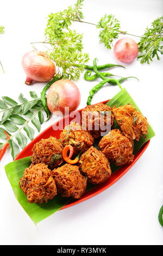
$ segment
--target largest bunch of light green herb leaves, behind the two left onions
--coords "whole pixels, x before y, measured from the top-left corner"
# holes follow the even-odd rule
[[[48,15],[45,29],[45,44],[51,46],[47,52],[56,65],[62,69],[63,78],[77,80],[83,68],[74,64],[86,64],[89,54],[83,53],[83,35],[70,29],[73,20],[83,19],[81,11],[83,0],[78,0],[74,7],[68,7],[59,13]]]

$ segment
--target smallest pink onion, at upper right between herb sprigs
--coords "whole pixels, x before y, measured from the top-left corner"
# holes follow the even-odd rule
[[[120,62],[130,63],[137,57],[139,47],[137,43],[130,38],[122,38],[118,40],[114,46],[115,57]]]

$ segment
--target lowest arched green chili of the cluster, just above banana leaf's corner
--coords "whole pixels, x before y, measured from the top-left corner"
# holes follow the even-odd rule
[[[89,95],[89,97],[88,97],[88,99],[87,99],[87,105],[91,105],[91,101],[92,101],[92,97],[93,97],[93,95],[95,94],[95,93],[97,93],[98,92],[98,90],[99,89],[101,89],[103,86],[104,86],[104,84],[105,83],[110,83],[110,82],[114,82],[114,83],[116,83],[121,89],[122,89],[122,87],[121,87],[121,84],[120,84],[120,82],[118,82],[118,80],[116,80],[116,79],[114,79],[114,78],[105,78],[105,80],[103,80],[102,82],[100,82],[100,83],[98,83],[95,87],[93,87],[91,90],[90,90],[90,95]]]

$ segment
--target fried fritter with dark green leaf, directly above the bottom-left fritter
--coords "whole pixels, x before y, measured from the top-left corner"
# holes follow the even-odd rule
[[[48,168],[54,169],[63,162],[62,150],[62,144],[57,138],[51,136],[48,139],[41,139],[32,149],[31,161],[45,163]]]

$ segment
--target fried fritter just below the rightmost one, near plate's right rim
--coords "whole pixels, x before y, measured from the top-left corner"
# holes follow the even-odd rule
[[[111,130],[98,144],[109,160],[116,166],[133,162],[134,141],[124,136],[120,130]]]

